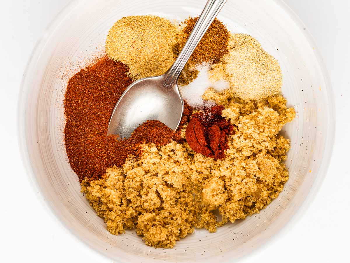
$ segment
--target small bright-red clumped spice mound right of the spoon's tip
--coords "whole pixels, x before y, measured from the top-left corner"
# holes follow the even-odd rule
[[[233,126],[222,117],[221,105],[211,107],[193,115],[186,128],[186,141],[196,152],[204,156],[223,159],[227,150],[227,135],[232,134]]]

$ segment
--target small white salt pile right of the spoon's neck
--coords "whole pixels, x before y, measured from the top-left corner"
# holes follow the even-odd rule
[[[219,80],[219,81],[211,81],[209,80],[208,71],[210,69],[210,65],[207,63],[203,63],[194,68],[198,70],[199,73],[192,82],[190,82],[186,86],[180,86],[181,95],[184,100],[192,107],[208,107],[212,106],[214,102],[204,101],[202,99],[202,95],[208,88],[214,88],[218,91],[230,88],[230,84],[228,81]]]

